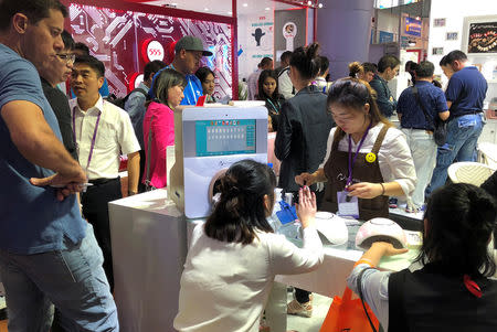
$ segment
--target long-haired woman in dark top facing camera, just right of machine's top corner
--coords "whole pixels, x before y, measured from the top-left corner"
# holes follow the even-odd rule
[[[277,131],[279,111],[285,101],[278,93],[278,75],[276,71],[265,69],[258,76],[258,95],[255,96],[257,100],[266,101],[268,118],[268,130]]]

